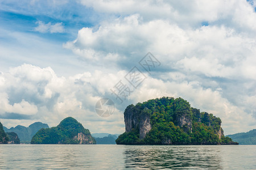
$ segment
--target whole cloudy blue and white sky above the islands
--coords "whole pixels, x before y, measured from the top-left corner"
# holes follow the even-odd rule
[[[0,0],[0,121],[72,116],[121,134],[127,105],[169,96],[220,117],[225,135],[256,129],[255,11],[252,0]],[[102,98],[109,117],[96,113]]]

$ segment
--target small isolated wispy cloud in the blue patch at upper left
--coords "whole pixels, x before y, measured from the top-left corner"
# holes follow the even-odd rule
[[[62,23],[55,23],[52,24],[51,22],[49,23],[44,23],[42,21],[36,22],[38,24],[38,27],[34,28],[34,31],[42,32],[42,33],[62,33],[65,32],[64,26]]]

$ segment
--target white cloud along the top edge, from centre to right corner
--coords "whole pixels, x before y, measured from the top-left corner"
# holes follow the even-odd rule
[[[119,15],[141,14],[146,20],[167,19],[181,27],[196,27],[202,22],[236,25],[256,29],[254,7],[249,1],[87,1],[82,5],[93,7],[98,12]]]

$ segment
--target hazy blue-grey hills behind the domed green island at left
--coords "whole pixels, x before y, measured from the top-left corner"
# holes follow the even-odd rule
[[[32,137],[42,128],[49,128],[49,126],[42,122],[35,122],[28,127],[18,125],[15,128],[10,129],[3,126],[3,130],[5,130],[6,133],[16,133],[20,139],[20,143],[30,143]]]

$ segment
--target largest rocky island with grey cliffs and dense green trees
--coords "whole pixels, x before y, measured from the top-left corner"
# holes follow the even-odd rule
[[[224,136],[221,119],[192,108],[180,97],[129,105],[118,145],[238,145]]]

